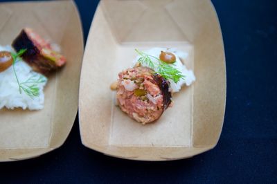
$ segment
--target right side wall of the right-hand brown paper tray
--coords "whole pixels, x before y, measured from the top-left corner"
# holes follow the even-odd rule
[[[199,62],[195,62],[195,73],[204,75],[208,82],[198,81],[194,86],[197,89],[194,94],[193,114],[193,145],[195,147],[217,145],[222,132],[226,108],[226,64],[220,21],[211,1],[203,1],[203,3],[209,4],[205,7],[211,15],[211,19],[209,19],[211,26],[207,26],[205,34],[199,35],[195,39],[195,42],[202,43],[195,44],[195,53],[202,53],[195,55],[195,59],[202,61],[201,67],[197,67]],[[206,42],[203,42],[205,39]],[[211,42],[213,42],[212,46],[209,44]],[[208,91],[208,93],[204,91]],[[207,114],[209,116],[206,116]]]

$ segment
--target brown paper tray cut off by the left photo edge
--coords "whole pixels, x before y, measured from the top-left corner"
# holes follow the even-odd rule
[[[44,109],[0,110],[0,161],[39,156],[60,147],[78,109],[83,54],[82,27],[73,1],[0,3],[0,44],[11,44],[22,28],[33,28],[59,44],[67,62],[48,77]]]

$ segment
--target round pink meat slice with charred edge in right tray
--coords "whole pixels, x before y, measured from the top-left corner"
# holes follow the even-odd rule
[[[118,74],[116,98],[120,109],[143,125],[157,120],[171,102],[168,81],[147,67]]]

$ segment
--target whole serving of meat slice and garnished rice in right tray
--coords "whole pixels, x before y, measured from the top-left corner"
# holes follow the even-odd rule
[[[118,74],[118,81],[111,84],[116,90],[120,109],[143,125],[159,119],[172,106],[172,93],[195,81],[193,71],[182,63],[186,53],[173,48],[136,49],[138,57],[133,68]],[[182,60],[182,61],[181,61]]]

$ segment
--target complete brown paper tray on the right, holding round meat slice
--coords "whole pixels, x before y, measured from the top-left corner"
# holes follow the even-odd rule
[[[175,47],[188,53],[196,82],[150,125],[115,106],[109,85],[132,67],[134,48]],[[135,160],[188,158],[215,147],[225,111],[222,34],[211,1],[109,1],[96,11],[82,65],[79,121],[82,143]]]

